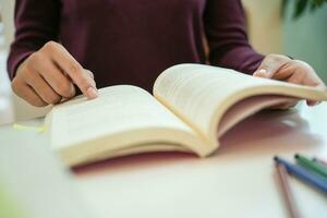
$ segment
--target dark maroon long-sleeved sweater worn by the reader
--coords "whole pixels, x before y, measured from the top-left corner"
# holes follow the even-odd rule
[[[152,90],[156,77],[178,63],[208,61],[252,73],[263,59],[249,45],[240,0],[16,0],[15,26],[11,78],[49,40],[90,70],[98,87]]]

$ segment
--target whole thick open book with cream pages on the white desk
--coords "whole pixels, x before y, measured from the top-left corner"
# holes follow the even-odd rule
[[[233,70],[180,64],[166,70],[154,96],[131,85],[76,97],[47,114],[51,147],[72,167],[138,153],[179,150],[209,156],[246,117],[290,98],[326,100],[316,88]]]

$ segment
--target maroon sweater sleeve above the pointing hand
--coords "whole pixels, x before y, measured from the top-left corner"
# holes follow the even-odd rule
[[[58,0],[16,0],[15,37],[8,58],[12,80],[19,65],[47,41],[57,40],[60,8]]]

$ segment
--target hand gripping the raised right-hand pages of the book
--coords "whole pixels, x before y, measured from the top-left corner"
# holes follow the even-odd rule
[[[307,63],[299,60],[292,60],[286,56],[268,55],[254,72],[254,76],[275,78],[300,85],[307,85],[326,90],[326,85],[316,74],[314,69]],[[296,105],[298,101],[291,101],[282,106],[280,109],[287,109]],[[307,100],[308,106],[314,106],[319,102]]]

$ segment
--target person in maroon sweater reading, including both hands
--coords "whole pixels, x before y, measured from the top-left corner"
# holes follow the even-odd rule
[[[204,36],[213,65],[325,88],[305,62],[252,49],[240,0],[16,0],[15,25],[9,73],[34,106],[73,97],[73,84],[95,98],[95,80],[150,90],[173,64],[206,63]]]

